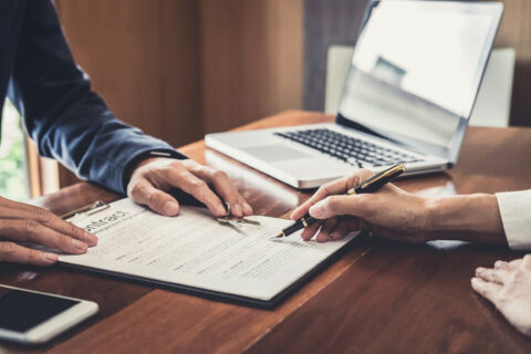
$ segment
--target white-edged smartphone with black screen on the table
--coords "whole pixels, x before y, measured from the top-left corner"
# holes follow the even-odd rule
[[[0,339],[44,343],[97,311],[92,301],[0,284]]]

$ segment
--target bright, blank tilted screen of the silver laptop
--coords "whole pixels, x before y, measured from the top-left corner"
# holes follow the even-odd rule
[[[340,123],[457,159],[501,13],[497,2],[373,2]]]

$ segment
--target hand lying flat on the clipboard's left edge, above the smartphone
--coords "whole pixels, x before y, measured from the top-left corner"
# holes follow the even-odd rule
[[[0,197],[0,261],[51,266],[58,254],[14,242],[33,242],[66,253],[85,253],[97,238],[53,214]]]

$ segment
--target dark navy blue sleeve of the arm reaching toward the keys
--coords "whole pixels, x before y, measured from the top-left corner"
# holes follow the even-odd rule
[[[126,192],[127,170],[147,152],[186,158],[110,112],[75,64],[51,0],[0,1],[0,107],[6,95],[41,155],[114,191]]]

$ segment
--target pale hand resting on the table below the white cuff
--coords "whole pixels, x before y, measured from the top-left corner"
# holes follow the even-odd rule
[[[531,254],[493,269],[478,268],[472,289],[494,304],[518,331],[531,336]]]

